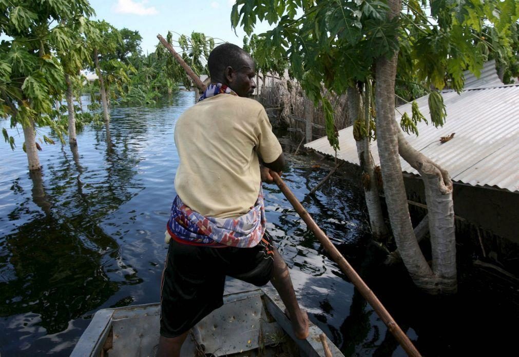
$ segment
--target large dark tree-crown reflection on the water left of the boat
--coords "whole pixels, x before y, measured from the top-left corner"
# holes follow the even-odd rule
[[[2,250],[9,253],[2,263],[12,271],[0,283],[0,315],[31,312],[39,316],[47,333],[54,333],[117,290],[117,284],[103,272],[100,252],[117,250],[117,243],[91,219],[78,219],[78,214],[71,215],[62,205],[53,204],[47,192],[55,195],[57,189],[61,193],[67,187],[46,188],[45,178],[41,172],[30,174],[32,201],[41,210],[3,239]],[[25,201],[15,211],[28,209]],[[103,242],[98,249],[92,249],[91,237],[78,229],[81,226],[90,226],[96,241]]]

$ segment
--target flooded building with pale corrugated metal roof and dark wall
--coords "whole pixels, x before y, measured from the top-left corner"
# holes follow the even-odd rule
[[[481,229],[484,236],[486,232],[487,237],[504,238],[487,238],[485,246],[488,251],[506,255],[503,246],[512,243],[513,251],[519,246],[519,84],[504,85],[496,74],[494,61],[485,64],[480,78],[469,74],[466,78],[461,93],[442,92],[447,111],[443,127],[431,124],[426,95],[416,102],[429,125],[419,122],[418,136],[404,135],[415,149],[449,172],[454,182],[458,220],[473,225],[477,234]],[[411,104],[395,109],[398,119],[405,112],[411,115]],[[452,134],[452,140],[440,141],[442,136]],[[339,130],[339,146],[338,159],[359,165],[353,127]],[[305,147],[335,155],[326,137]],[[378,165],[376,141],[371,143],[371,150]],[[402,158],[400,163],[409,200],[425,203],[418,172]]]

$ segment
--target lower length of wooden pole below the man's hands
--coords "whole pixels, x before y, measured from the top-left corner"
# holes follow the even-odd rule
[[[313,221],[310,214],[305,210],[301,202],[297,200],[292,191],[286,184],[281,180],[281,177],[275,172],[272,172],[272,177],[274,178],[274,182],[281,189],[283,195],[285,195],[286,199],[292,204],[296,212],[303,218],[308,228],[316,235],[317,239],[324,246],[324,249],[330,254],[332,259],[337,263],[346,276],[350,279],[350,281],[359,289],[359,292],[364,296],[367,302],[373,307],[375,312],[378,314],[380,319],[384,321],[388,330],[393,334],[393,336],[397,339],[399,344],[402,346],[404,351],[409,356],[420,356],[420,352],[413,345],[413,342],[409,340],[409,338],[405,335],[399,325],[393,320],[389,312],[386,308],[380,303],[380,300],[376,297],[376,295],[371,291],[371,289],[366,285],[366,283],[362,280],[362,278],[357,274],[357,272],[351,267],[348,261],[344,258],[342,254],[335,248],[335,245],[330,241],[324,232],[319,228],[319,226]]]

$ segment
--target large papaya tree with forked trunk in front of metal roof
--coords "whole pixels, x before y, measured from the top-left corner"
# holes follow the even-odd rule
[[[326,133],[335,149],[333,110],[321,95],[323,88],[344,94],[374,81],[374,98],[366,100],[375,109],[371,116],[392,234],[413,281],[431,294],[457,289],[453,185],[443,168],[406,142],[395,120],[395,78],[398,74],[423,84],[430,92],[432,123],[443,125],[446,111],[438,90],[462,90],[463,71],[479,75],[489,51],[510,53],[518,12],[513,0],[407,0],[403,9],[400,0],[288,0],[268,6],[238,0],[231,10],[233,26],[243,26],[248,34],[258,20],[276,24],[260,36],[265,53],[288,59],[291,75],[308,97],[322,102]],[[491,35],[484,36],[486,32]],[[422,120],[416,105],[414,109],[412,118],[403,116],[404,127]],[[420,251],[409,218],[399,155],[420,173],[426,187],[432,266]]]

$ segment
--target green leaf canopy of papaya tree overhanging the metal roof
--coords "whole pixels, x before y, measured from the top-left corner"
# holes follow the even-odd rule
[[[395,51],[399,51],[397,92],[407,99],[424,95],[431,87],[460,91],[463,71],[479,75],[492,53],[503,62],[517,63],[513,43],[519,3],[514,0],[404,0],[403,5],[400,16],[392,17],[386,2],[376,0],[237,0],[230,20],[248,34],[257,21],[276,23],[254,40],[255,59],[265,70],[269,63],[288,62],[290,76],[313,100],[321,98],[323,88],[343,94],[356,82],[365,83],[374,77],[375,60],[390,58]],[[443,125],[441,95],[433,91],[430,100],[434,125]],[[420,118],[417,111],[412,118],[407,115],[405,127],[413,131]],[[334,146],[332,124],[326,120]]]

